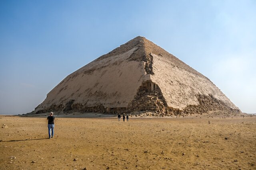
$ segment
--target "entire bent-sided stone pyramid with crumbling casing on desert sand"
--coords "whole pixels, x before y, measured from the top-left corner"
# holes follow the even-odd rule
[[[68,75],[33,113],[216,110],[240,112],[207,77],[138,36]]]

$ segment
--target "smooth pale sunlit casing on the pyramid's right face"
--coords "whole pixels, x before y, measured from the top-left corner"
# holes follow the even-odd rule
[[[196,76],[158,55],[153,56],[154,75],[150,76],[156,82],[169,107],[184,109],[186,106],[199,105],[198,95],[212,95],[232,109],[238,109],[208,78]]]

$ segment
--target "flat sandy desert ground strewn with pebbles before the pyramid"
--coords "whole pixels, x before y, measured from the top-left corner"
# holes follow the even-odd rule
[[[0,169],[256,169],[256,116],[0,116]],[[209,124],[210,121],[210,124]],[[226,139],[225,139],[226,138]]]

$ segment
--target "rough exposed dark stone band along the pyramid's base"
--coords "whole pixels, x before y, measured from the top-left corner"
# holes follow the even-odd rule
[[[142,93],[144,92],[144,95]],[[139,100],[136,100],[138,96],[147,96],[147,97],[140,97]],[[223,102],[217,100],[212,95],[204,96],[198,95],[198,101],[200,105],[190,105],[185,107],[183,110],[168,107],[166,102],[163,99],[159,98],[160,89],[156,88],[154,93],[146,92],[145,91],[138,91],[137,96],[131,102],[130,106],[128,107],[104,107],[102,105],[88,107],[84,106],[83,104],[73,103],[70,105],[70,102],[64,105],[52,105],[47,109],[37,111],[36,113],[32,114],[40,114],[40,113],[47,113],[54,111],[56,113],[73,113],[73,112],[95,112],[95,113],[105,113],[105,114],[112,114],[117,115],[118,113],[132,113],[134,111],[146,111],[146,112],[153,112],[156,115],[189,115],[189,114],[202,114],[208,111],[224,111],[227,113],[241,113],[239,109],[232,109],[226,106]],[[152,100],[148,100],[151,98]],[[72,101],[74,102],[74,101]]]

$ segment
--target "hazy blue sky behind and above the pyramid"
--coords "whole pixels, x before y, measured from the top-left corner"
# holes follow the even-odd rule
[[[256,0],[0,0],[0,114],[138,35],[256,113]]]

